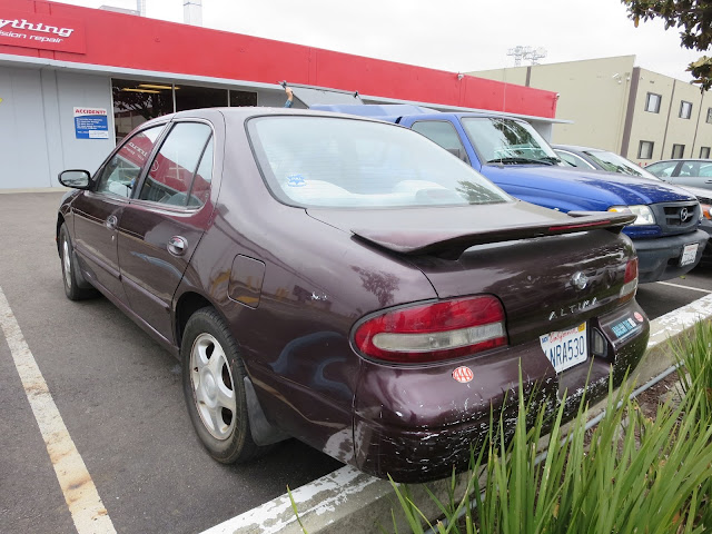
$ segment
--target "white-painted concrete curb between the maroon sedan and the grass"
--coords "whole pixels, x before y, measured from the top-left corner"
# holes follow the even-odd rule
[[[651,322],[647,350],[630,382],[641,385],[674,365],[670,343],[682,340],[695,323],[712,318],[712,295],[702,297]],[[590,417],[601,412],[604,403],[590,411]],[[462,478],[462,477],[459,477]],[[462,483],[461,483],[462,484]],[[437,481],[428,487],[438,498],[447,494],[449,481]],[[427,498],[422,485],[408,486],[414,502],[428,517],[437,517],[438,510]],[[462,494],[462,490],[456,490]],[[291,492],[299,520],[309,534],[378,532],[378,525],[393,530],[392,511],[399,532],[405,532],[405,518],[397,497],[387,481],[366,475],[346,466]],[[429,510],[428,510],[429,507]],[[379,523],[382,522],[382,523]],[[390,527],[390,528],[388,528]],[[202,534],[301,534],[301,526],[285,494],[261,506],[205,531]]]

